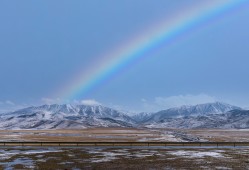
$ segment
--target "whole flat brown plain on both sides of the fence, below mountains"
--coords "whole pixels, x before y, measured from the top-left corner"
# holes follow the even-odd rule
[[[30,142],[248,142],[249,130],[92,128],[1,130]],[[249,169],[249,147],[0,146],[0,169]]]

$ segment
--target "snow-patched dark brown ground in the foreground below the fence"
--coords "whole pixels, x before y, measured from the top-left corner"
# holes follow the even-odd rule
[[[0,169],[249,169],[249,148],[2,147]]]

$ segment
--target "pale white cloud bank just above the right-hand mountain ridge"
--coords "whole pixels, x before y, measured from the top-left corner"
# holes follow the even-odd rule
[[[203,93],[198,95],[187,94],[169,97],[155,97],[153,101],[142,99],[144,110],[153,112],[182,105],[196,105],[215,101],[215,97]]]

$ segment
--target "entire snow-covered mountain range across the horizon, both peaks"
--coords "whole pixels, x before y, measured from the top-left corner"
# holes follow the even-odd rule
[[[0,129],[249,128],[249,111],[215,102],[129,116],[102,105],[53,104],[0,114]]]

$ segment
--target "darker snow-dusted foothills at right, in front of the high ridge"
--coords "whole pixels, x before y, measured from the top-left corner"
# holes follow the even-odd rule
[[[221,114],[207,114],[186,116],[179,118],[166,118],[157,123],[145,125],[148,128],[223,128],[245,129],[249,128],[249,111],[232,110]]]

